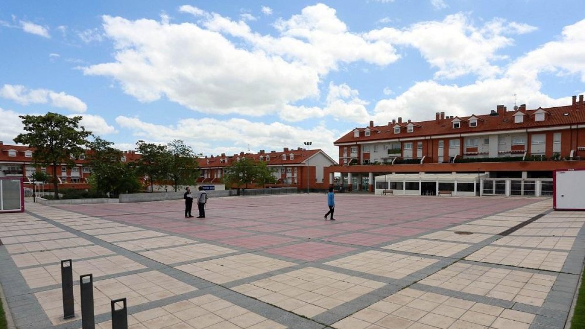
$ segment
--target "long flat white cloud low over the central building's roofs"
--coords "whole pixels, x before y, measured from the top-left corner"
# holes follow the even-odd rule
[[[116,122],[121,128],[129,129],[137,139],[148,142],[168,143],[173,139],[182,139],[194,148],[195,152],[218,155],[233,155],[241,151],[282,150],[284,147],[296,148],[303,142],[311,140],[312,148],[324,149],[329,156],[335,158],[336,148],[333,147],[340,132],[332,131],[323,124],[312,129],[300,129],[296,126],[284,125],[280,122],[266,124],[246,119],[218,120],[214,118],[181,119],[173,126],[162,126],[143,122],[138,118],[118,116]],[[195,133],[194,127],[197,127]],[[228,148],[218,146],[233,145]]]

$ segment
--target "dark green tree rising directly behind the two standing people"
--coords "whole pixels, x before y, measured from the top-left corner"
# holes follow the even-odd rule
[[[175,192],[179,185],[191,185],[199,177],[199,165],[197,157],[191,146],[185,145],[180,139],[175,139],[167,144],[171,153],[170,170],[168,178],[173,181]]]

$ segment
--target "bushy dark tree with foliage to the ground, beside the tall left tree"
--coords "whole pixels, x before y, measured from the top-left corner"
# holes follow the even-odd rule
[[[140,190],[140,184],[132,166],[122,163],[122,152],[112,148],[112,142],[97,136],[87,144],[88,165],[92,168],[91,186],[101,194],[132,193]]]

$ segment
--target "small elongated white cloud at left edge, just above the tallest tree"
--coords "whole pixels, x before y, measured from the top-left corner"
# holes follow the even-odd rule
[[[65,92],[46,89],[28,89],[23,85],[5,84],[0,88],[0,97],[22,105],[51,104],[54,107],[66,108],[74,112],[85,112],[87,105],[79,98]]]

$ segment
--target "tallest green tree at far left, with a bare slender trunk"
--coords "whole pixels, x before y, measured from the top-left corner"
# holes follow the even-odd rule
[[[34,148],[33,161],[37,165],[53,167],[53,190],[55,198],[59,199],[57,166],[73,166],[70,155],[77,156],[82,152],[81,146],[87,143],[91,132],[79,125],[81,116],[68,118],[48,112],[46,115],[20,115],[19,118],[27,133],[20,133],[14,142]]]

